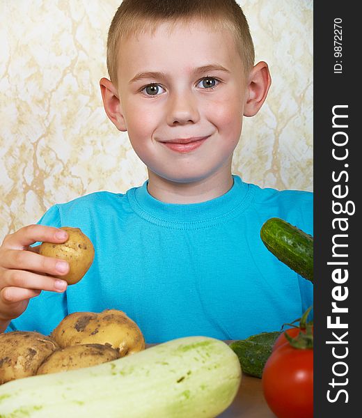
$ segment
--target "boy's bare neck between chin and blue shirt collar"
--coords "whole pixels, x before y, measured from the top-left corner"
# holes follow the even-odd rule
[[[228,173],[214,173],[207,180],[192,183],[178,183],[166,180],[148,170],[148,193],[165,203],[201,203],[226,194],[233,187],[233,176]]]

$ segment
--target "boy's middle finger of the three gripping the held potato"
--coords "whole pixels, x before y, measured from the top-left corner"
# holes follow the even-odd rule
[[[1,267],[6,269],[30,270],[54,275],[66,274],[69,264],[56,258],[40,256],[32,251],[8,249]]]

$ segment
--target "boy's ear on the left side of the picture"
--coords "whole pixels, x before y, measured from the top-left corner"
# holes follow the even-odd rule
[[[116,87],[109,79],[103,77],[100,79],[100,91],[102,93],[104,110],[106,111],[109,119],[111,119],[113,124],[116,125],[118,130],[123,132],[127,131]]]

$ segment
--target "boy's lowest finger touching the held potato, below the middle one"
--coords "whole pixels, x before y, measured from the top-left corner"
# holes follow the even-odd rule
[[[6,288],[24,288],[31,291],[38,291],[38,293],[40,291],[63,292],[67,288],[67,282],[24,270],[7,270],[3,274],[3,291],[5,292],[3,298],[8,302],[13,302],[8,300],[7,296],[8,294],[12,294],[13,291],[6,291]]]

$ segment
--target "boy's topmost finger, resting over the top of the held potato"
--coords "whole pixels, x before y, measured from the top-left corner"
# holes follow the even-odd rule
[[[68,233],[63,229],[54,226],[28,225],[23,226],[18,231],[7,235],[3,240],[3,245],[7,248],[25,249],[34,242],[64,242],[68,238]]]

